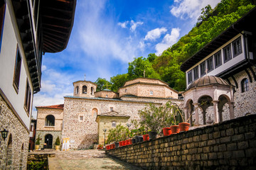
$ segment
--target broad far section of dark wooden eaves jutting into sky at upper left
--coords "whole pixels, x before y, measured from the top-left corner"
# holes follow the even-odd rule
[[[76,0],[41,0],[43,52],[60,52],[68,45]]]

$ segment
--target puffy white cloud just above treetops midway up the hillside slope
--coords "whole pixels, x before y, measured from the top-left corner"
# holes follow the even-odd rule
[[[178,41],[178,37],[180,35],[180,28],[172,28],[171,34],[166,34],[164,39],[156,44],[156,55],[161,55],[161,53],[167,48],[171,47]]]

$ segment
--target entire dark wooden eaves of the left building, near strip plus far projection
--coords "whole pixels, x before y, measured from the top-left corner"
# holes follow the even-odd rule
[[[60,52],[68,45],[73,28],[76,0],[41,0],[38,7],[40,11],[38,38],[35,38],[33,33],[31,17],[33,11],[31,11],[29,0],[12,0],[11,4],[35,94],[41,89],[42,52]],[[42,42],[39,41],[41,38]],[[36,41],[38,41],[37,45]]]

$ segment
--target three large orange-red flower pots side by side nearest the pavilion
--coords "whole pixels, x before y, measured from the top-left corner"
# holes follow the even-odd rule
[[[163,128],[164,136],[171,134],[177,134],[179,132],[188,131],[189,123],[179,123],[178,125],[172,125],[171,128]]]

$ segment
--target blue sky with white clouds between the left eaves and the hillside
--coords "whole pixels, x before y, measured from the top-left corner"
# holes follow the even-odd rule
[[[127,73],[128,62],[161,55],[195,26],[201,8],[220,0],[77,0],[75,21],[63,52],[43,56],[41,91],[34,106],[63,103],[73,82],[110,80]]]

